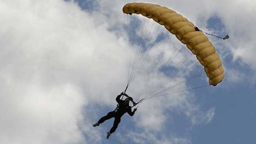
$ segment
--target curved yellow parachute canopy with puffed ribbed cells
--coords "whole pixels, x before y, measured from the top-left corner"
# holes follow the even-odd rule
[[[225,73],[215,47],[204,33],[196,30],[194,24],[181,14],[150,3],[128,3],[122,10],[126,14],[135,13],[152,18],[155,22],[165,26],[170,33],[176,35],[177,39],[186,44],[204,66],[210,85],[216,86],[223,80]]]

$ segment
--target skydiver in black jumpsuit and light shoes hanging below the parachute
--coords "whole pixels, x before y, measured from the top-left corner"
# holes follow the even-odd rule
[[[125,100],[121,100],[120,97],[122,95],[125,95],[127,98]],[[135,111],[137,110],[137,109],[134,109],[133,111],[131,111],[131,106],[129,106],[129,102],[130,102],[129,99],[131,99],[131,97],[129,97],[127,94],[121,93],[120,95],[118,95],[115,99],[116,102],[118,103],[115,110],[109,112],[107,115],[100,118],[97,123],[93,124],[93,127],[96,127],[96,126],[99,126],[99,124],[103,123],[105,120],[115,118],[113,127],[110,129],[109,132],[107,132],[107,139],[109,138],[110,134],[112,134],[115,131],[115,129],[118,127],[118,124],[121,121],[122,115],[124,115],[127,112],[130,116],[133,116]]]

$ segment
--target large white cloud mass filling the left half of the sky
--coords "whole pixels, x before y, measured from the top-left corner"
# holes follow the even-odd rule
[[[123,84],[122,40],[73,2],[0,5],[0,143],[84,143],[83,106]]]

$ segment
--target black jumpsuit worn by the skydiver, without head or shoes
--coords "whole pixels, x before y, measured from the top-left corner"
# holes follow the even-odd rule
[[[131,106],[129,106],[129,105],[125,106],[125,101],[120,99],[121,96],[122,95],[118,95],[115,99],[116,102],[118,103],[118,106],[115,108],[115,110],[109,112],[107,115],[100,118],[99,121],[98,121],[98,123],[101,124],[105,120],[115,118],[113,127],[109,131],[111,134],[113,132],[115,132],[115,129],[118,127],[118,124],[121,121],[122,115],[124,115],[127,112],[130,116],[133,116],[134,112],[135,112],[135,111],[133,111],[133,112],[131,111]]]

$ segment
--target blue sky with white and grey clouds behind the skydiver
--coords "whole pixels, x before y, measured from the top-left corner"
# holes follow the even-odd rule
[[[222,59],[225,78],[216,87],[186,90],[207,84],[199,77],[169,90],[169,95],[146,100],[133,117],[125,114],[106,139],[113,119],[92,125],[115,109],[115,97],[127,84],[122,7],[130,2],[166,6],[203,31],[228,34],[225,41],[208,37]],[[0,0],[0,143],[254,143],[255,6],[252,0]],[[158,30],[149,31],[161,35]],[[150,42],[157,35],[148,37],[145,41]],[[127,89],[133,99],[139,100],[157,72],[168,72],[163,64],[175,45],[184,47],[169,37],[156,61]],[[185,57],[185,48],[183,57],[168,66]],[[164,78],[163,85],[168,75]],[[186,91],[175,93],[181,90]]]

